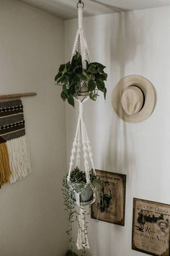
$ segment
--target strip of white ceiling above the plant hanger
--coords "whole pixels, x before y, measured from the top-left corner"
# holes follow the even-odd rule
[[[63,19],[77,17],[78,0],[19,0]],[[83,0],[84,15],[170,6],[170,0]]]

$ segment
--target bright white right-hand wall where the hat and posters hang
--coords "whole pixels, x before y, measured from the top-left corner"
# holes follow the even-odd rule
[[[170,203],[170,7],[84,19],[91,61],[107,66],[107,101],[86,103],[85,119],[96,168],[127,174],[125,227],[90,220],[90,256],[137,256],[131,249],[133,197]],[[65,22],[66,59],[70,59],[77,20]],[[130,74],[150,80],[157,92],[152,116],[125,123],[112,108],[117,82]],[[77,107],[66,108],[68,158]],[[145,255],[145,254],[143,254]]]

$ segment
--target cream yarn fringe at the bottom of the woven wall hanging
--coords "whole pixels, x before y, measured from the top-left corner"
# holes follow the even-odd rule
[[[27,146],[26,136],[18,137],[6,142],[9,151],[9,165],[12,170],[9,182],[17,182],[31,171],[30,155]]]

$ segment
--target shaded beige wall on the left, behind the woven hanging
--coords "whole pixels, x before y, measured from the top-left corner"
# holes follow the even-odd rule
[[[61,195],[65,105],[54,86],[63,41],[62,20],[0,0],[0,93],[37,93],[23,98],[32,174],[0,190],[1,256],[63,256],[68,246]]]

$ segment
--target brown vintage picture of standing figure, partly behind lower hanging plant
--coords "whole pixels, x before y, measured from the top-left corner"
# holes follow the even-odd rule
[[[96,171],[102,188],[99,198],[91,205],[91,218],[125,226],[126,175]]]

